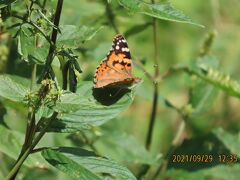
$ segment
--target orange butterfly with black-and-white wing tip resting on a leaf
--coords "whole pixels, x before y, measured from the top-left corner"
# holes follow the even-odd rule
[[[97,67],[94,88],[130,87],[141,81],[132,75],[132,58],[126,39],[122,35],[113,38],[112,48]]]

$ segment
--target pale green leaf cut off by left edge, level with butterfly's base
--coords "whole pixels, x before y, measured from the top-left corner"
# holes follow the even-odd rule
[[[22,102],[26,93],[27,89],[11,79],[10,76],[0,75],[0,96]]]

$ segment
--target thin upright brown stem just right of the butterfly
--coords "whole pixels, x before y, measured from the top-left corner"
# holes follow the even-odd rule
[[[152,0],[152,3],[154,4],[155,1]],[[155,79],[159,76],[159,43],[158,43],[158,23],[157,19],[153,18],[153,40],[154,40],[154,68],[155,73],[154,77]],[[156,114],[157,114],[157,105],[158,105],[158,82],[155,81],[154,83],[154,93],[153,93],[153,103],[152,103],[152,112],[150,116],[150,122],[148,127],[148,133],[147,133],[147,139],[146,139],[146,149],[150,149],[151,143],[152,143],[152,135],[153,135],[153,128],[155,124]]]

